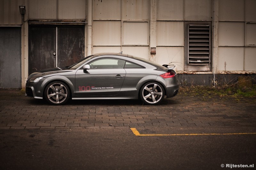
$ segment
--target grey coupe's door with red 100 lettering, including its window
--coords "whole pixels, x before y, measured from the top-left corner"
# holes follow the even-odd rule
[[[120,91],[126,72],[124,60],[100,58],[89,63],[90,69],[76,72],[77,96],[110,96]]]

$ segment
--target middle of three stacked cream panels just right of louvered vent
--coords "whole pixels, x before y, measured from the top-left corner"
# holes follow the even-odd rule
[[[219,22],[219,46],[244,46],[244,22]]]

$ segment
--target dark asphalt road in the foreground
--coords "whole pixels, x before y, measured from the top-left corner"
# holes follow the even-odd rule
[[[193,135],[135,136],[130,128],[1,130],[0,169],[230,169],[225,168],[226,164],[256,166],[256,134],[239,134],[254,133],[254,127],[136,129],[144,135]]]

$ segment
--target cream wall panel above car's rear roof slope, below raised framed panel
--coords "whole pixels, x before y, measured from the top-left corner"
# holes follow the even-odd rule
[[[149,47],[148,46],[124,46],[122,47],[123,54],[130,54],[137,57],[149,60]]]

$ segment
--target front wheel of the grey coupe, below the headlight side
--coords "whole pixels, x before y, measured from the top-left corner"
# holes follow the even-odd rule
[[[52,105],[63,105],[70,97],[68,85],[61,81],[49,83],[44,89],[44,98]]]

